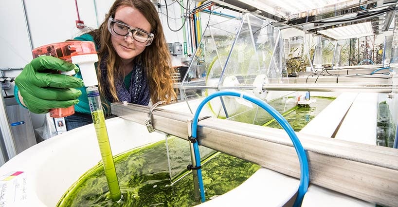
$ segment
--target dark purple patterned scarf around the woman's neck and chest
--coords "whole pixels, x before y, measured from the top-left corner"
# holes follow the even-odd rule
[[[108,70],[107,64],[105,60],[107,59],[108,55],[103,56],[103,61],[101,61],[100,69],[101,69],[101,79],[105,85],[109,85],[109,81],[107,79]],[[139,58],[134,65],[133,71],[131,72],[130,78],[130,86],[126,89],[124,78],[117,78],[116,79],[116,93],[117,97],[120,101],[127,101],[128,103],[139,104],[143,106],[147,106],[149,103],[149,84],[146,78],[146,73],[144,71],[144,65]],[[114,99],[110,95],[109,88],[105,88],[106,97],[109,101],[114,102]]]

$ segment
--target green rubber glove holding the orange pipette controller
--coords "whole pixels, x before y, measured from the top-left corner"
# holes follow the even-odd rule
[[[54,71],[72,71],[79,68],[53,56],[39,56],[28,63],[15,79],[20,100],[33,113],[47,113],[50,109],[67,108],[77,104],[83,86],[83,80],[55,73]]]

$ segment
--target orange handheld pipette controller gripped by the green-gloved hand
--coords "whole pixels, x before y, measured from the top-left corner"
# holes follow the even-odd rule
[[[94,43],[90,41],[66,41],[48,44],[35,48],[32,53],[33,58],[38,56],[54,56],[68,62],[72,62],[72,56],[97,54]],[[73,70],[69,72],[59,71],[59,73],[65,75],[75,74]],[[70,116],[73,113],[74,106],[50,110],[50,116],[54,118]]]

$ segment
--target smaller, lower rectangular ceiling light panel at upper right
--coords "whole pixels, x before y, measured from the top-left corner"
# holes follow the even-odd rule
[[[322,35],[333,39],[361,38],[373,35],[372,23],[370,21],[359,24],[351,24],[344,27],[335,27],[318,31]]]

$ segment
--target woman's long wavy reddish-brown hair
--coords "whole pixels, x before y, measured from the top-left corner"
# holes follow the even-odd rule
[[[97,70],[97,76],[100,80],[100,93],[104,94],[106,91],[104,87],[107,87],[114,99],[109,101],[119,101],[116,93],[115,79],[123,75],[122,70],[117,70],[121,66],[122,60],[113,49],[110,41],[111,34],[108,31],[108,19],[109,17],[115,17],[116,10],[121,6],[129,6],[139,10],[151,25],[151,33],[155,35],[152,44],[146,46],[145,50],[139,56],[135,57],[135,59],[142,58],[143,60],[152,102],[166,101],[166,103],[169,103],[172,100],[177,100],[177,95],[173,90],[174,81],[171,77],[174,69],[171,66],[171,57],[164,38],[163,27],[155,6],[150,0],[115,0],[101,26],[89,33],[97,41],[97,44],[100,45],[100,50],[98,51],[99,63],[102,58],[105,58],[104,54],[108,53],[108,57],[105,60],[108,72],[107,85],[101,80],[101,70],[99,68]],[[100,64],[98,64],[99,66]]]

